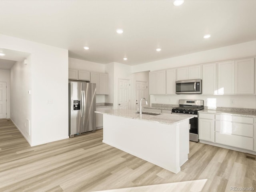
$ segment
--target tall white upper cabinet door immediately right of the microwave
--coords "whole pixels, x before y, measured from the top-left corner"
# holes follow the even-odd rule
[[[218,94],[216,89],[216,63],[203,65],[203,94]]]

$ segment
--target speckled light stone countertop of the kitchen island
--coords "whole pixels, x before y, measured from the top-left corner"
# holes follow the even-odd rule
[[[188,120],[193,118],[193,116],[189,115],[178,115],[178,114],[163,114],[160,115],[146,115],[146,114],[138,114],[136,113],[136,110],[129,110],[129,109],[115,109],[115,110],[105,110],[104,112],[96,111],[96,113],[101,114],[108,114],[108,115],[114,115],[124,118],[130,118],[130,119],[137,119],[137,120],[143,120],[143,121],[151,121],[155,123],[161,123],[161,124],[176,124],[180,121]]]

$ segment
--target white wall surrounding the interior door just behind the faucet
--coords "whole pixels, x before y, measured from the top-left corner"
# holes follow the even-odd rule
[[[132,74],[132,82],[131,82],[131,109],[135,108],[136,103],[136,81],[144,81],[148,82],[148,105],[150,104],[150,95],[149,95],[149,73],[148,71],[145,72],[138,72]]]

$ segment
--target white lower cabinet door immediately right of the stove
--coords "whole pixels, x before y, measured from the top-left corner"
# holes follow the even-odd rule
[[[199,118],[199,139],[214,142],[214,120]]]

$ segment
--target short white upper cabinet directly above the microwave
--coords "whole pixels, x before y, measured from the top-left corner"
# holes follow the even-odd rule
[[[201,79],[201,65],[177,69],[177,81],[188,79]]]

